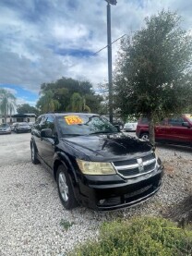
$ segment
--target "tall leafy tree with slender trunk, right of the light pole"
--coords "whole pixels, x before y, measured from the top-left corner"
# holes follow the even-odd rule
[[[181,113],[191,101],[192,37],[180,28],[181,18],[170,11],[145,18],[146,26],[122,40],[114,81],[114,101],[122,115],[154,122]]]

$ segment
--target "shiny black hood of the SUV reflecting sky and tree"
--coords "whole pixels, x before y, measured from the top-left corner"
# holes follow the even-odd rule
[[[110,135],[88,135],[62,138],[66,145],[76,151],[76,157],[82,154],[90,161],[114,161],[131,159],[151,151],[150,143],[123,133]],[[78,152],[79,155],[78,156]]]

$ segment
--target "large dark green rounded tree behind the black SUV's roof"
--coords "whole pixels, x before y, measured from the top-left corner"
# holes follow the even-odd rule
[[[62,78],[52,83],[43,83],[41,86],[42,97],[46,91],[52,91],[53,99],[59,103],[56,108],[57,111],[72,111],[74,102],[78,103],[75,109],[78,107],[78,109],[85,109],[86,112],[90,112],[89,106],[91,105],[91,112],[99,113],[101,110],[102,97],[95,94],[89,81]],[[41,103],[42,97],[39,100]],[[37,106],[42,107],[39,102]]]

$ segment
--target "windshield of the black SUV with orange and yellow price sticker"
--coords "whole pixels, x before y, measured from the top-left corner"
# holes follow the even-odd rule
[[[57,122],[62,136],[118,132],[118,129],[102,116],[58,116]]]

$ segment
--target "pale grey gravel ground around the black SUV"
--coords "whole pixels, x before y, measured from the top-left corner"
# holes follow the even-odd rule
[[[42,165],[32,165],[29,152],[25,162],[0,165],[0,256],[66,255],[78,243],[95,238],[103,221],[160,216],[192,189],[192,149],[158,145],[165,175],[162,189],[150,201],[111,213],[84,207],[66,211],[52,175]]]

